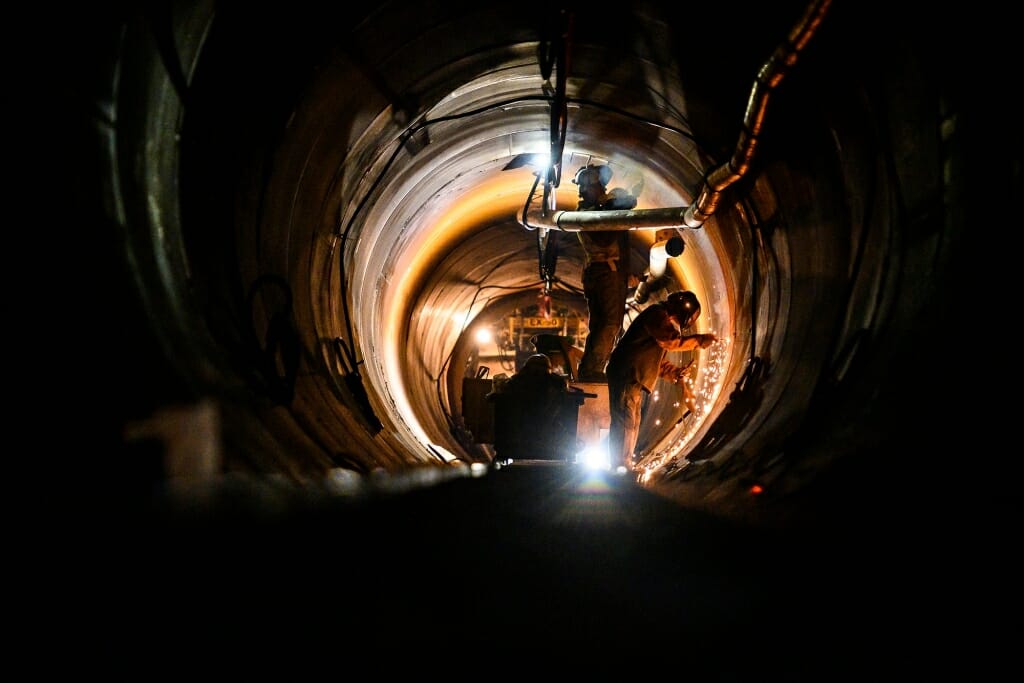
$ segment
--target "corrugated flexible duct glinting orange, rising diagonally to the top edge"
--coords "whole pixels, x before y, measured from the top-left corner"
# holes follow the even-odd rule
[[[705,176],[696,201],[686,210],[683,219],[686,227],[698,228],[703,225],[718,209],[725,188],[750,171],[751,161],[758,147],[758,135],[764,126],[768,96],[781,83],[788,69],[797,62],[797,57],[816,33],[830,4],[830,0],[811,3],[800,23],[790,32],[785,42],[776,47],[761,67],[748,99],[743,130],[736,143],[736,151],[731,159]]]

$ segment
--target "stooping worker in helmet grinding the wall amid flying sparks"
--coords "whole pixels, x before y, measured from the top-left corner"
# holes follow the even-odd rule
[[[693,292],[673,292],[665,301],[640,311],[611,351],[607,373],[612,469],[633,469],[645,394],[654,390],[658,378],[679,383],[689,368],[667,361],[666,352],[708,348],[717,341],[713,334],[683,334],[699,316],[700,302]]]

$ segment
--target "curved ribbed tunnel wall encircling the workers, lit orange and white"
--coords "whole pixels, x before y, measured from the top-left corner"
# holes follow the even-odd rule
[[[591,159],[615,169],[613,186],[643,180],[638,208],[692,202],[806,9],[577,16],[559,207]],[[545,27],[472,4],[421,15],[392,3],[353,20],[199,2],[127,18],[97,94],[111,114],[97,125],[103,199],[145,325],[185,385],[128,417],[213,397],[226,468],[297,482],[445,465],[431,443],[479,461],[450,421],[453,313],[502,292],[486,288],[539,286],[536,236],[515,221],[534,176],[502,169],[549,148]],[[891,407],[870,398],[899,392],[888,364],[931,326],[961,229],[944,217],[956,197],[942,169],[959,160],[940,135],[956,102],[930,45],[888,27],[890,42],[872,54],[857,42],[849,60],[870,19],[831,8],[772,96],[755,170],[680,231],[675,275],[705,302],[701,331],[725,340],[719,365],[700,361],[707,414],[659,441],[641,478],[683,505],[785,519],[890,436]],[[635,253],[649,238],[634,234]],[[567,247],[569,298],[580,265]]]

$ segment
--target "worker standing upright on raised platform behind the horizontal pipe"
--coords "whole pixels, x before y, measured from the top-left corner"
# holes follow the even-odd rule
[[[578,211],[632,209],[637,199],[621,187],[610,193],[611,169],[588,164],[572,182],[579,186]],[[611,348],[623,331],[626,297],[629,291],[629,231],[581,230],[585,263],[583,293],[587,298],[589,321],[587,341],[580,359],[581,382],[606,382],[604,367]]]

